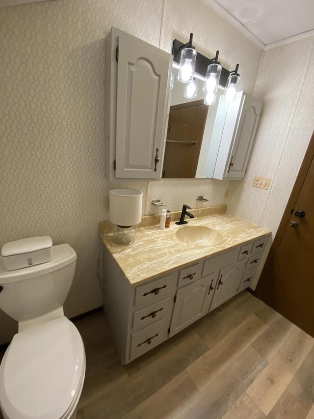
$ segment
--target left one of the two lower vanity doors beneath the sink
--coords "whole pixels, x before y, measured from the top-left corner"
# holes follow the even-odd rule
[[[169,337],[185,329],[209,311],[217,274],[199,279],[177,291]]]

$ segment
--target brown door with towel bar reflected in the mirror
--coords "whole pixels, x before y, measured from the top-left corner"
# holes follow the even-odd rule
[[[208,108],[202,100],[170,107],[162,177],[195,177]]]

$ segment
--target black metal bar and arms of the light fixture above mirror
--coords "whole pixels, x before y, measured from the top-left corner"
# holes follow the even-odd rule
[[[183,48],[187,48],[187,47],[188,48],[194,48],[191,45],[192,37],[193,37],[193,34],[191,33],[190,34],[190,41],[187,44],[183,44],[182,42],[178,41],[178,39],[175,39],[173,41],[173,43],[172,43],[172,55],[173,55],[173,60],[176,63],[180,64],[181,51],[183,50]],[[203,56],[200,53],[197,53],[195,70],[194,71],[205,78],[207,67],[209,66],[209,64],[211,64],[213,62],[217,62],[218,53],[219,53],[219,51],[217,51],[215,58],[208,58],[206,56]],[[238,66],[239,66],[239,64],[236,64],[236,69],[233,71],[233,73],[237,73]],[[225,88],[227,86],[228,77],[229,77],[230,73],[232,73],[232,72],[228,71],[226,68],[224,68],[224,67],[221,68],[219,86],[221,86],[223,88]]]

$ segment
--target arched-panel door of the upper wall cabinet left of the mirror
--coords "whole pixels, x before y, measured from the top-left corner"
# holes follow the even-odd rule
[[[115,177],[160,179],[172,56],[118,34]]]

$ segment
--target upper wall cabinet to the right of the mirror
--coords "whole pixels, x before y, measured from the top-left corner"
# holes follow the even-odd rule
[[[228,110],[220,99],[209,151],[207,176],[214,179],[243,179],[251,154],[262,103],[240,91]]]

